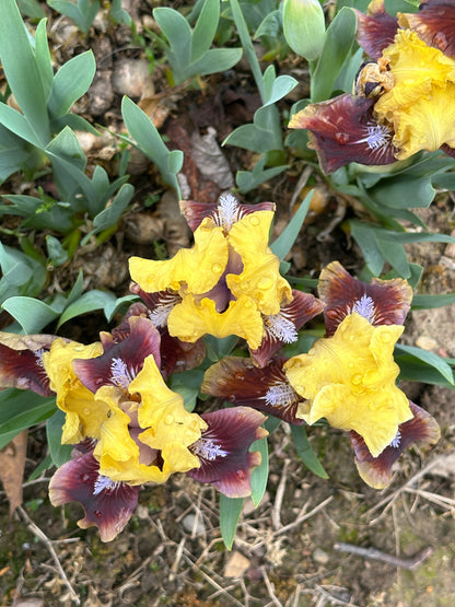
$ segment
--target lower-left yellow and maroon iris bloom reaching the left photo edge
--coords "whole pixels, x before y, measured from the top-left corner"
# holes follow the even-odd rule
[[[139,487],[175,472],[229,497],[250,494],[260,455],[249,447],[266,435],[265,417],[246,407],[187,411],[164,382],[161,336],[141,305],[100,337],[83,346],[0,332],[0,386],[56,394],[66,413],[62,443],[74,445],[73,456],[54,475],[50,501],[79,501],[85,512],[79,525],[96,525],[108,541],[131,516]]]

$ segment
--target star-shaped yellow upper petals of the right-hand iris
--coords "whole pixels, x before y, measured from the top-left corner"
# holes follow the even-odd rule
[[[307,354],[290,359],[285,374],[308,402],[300,417],[320,418],[335,428],[354,430],[377,457],[394,440],[398,425],[412,418],[406,395],[395,385],[395,342],[402,326],[372,326],[348,315],[330,338],[318,339]]]

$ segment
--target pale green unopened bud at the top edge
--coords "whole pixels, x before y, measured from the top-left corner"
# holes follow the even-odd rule
[[[323,7],[318,0],[284,0],[283,30],[287,43],[307,61],[317,59],[326,34]]]

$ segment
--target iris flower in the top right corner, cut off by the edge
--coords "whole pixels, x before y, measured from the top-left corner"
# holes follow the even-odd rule
[[[429,0],[418,13],[385,12],[374,0],[358,15],[358,40],[375,62],[358,74],[355,94],[311,104],[290,128],[311,131],[325,173],[350,162],[406,160],[421,150],[455,156],[455,7]]]

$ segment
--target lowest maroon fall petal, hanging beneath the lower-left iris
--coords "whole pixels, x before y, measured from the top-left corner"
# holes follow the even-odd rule
[[[52,476],[49,498],[52,505],[79,502],[85,516],[78,521],[82,529],[95,525],[102,541],[110,541],[125,527],[138,504],[139,487],[113,482],[100,477],[93,452],[67,462]]]

